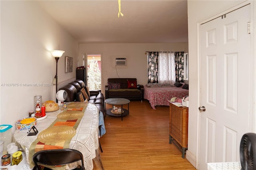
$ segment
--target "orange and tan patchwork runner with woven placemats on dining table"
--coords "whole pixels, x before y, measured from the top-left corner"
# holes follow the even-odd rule
[[[56,120],[48,128],[40,132],[36,140],[30,145],[28,159],[30,161],[30,168],[34,165],[32,156],[35,152],[40,150],[69,148],[70,141],[75,135],[76,128],[84,116],[88,105],[88,103],[83,103],[84,107],[82,107],[78,104],[77,106],[79,108],[76,108],[75,103],[72,104],[71,108],[67,107],[63,112],[58,114]],[[82,114],[77,112],[81,112]],[[68,116],[70,113],[72,113],[71,117],[73,116],[74,119],[69,119]]]

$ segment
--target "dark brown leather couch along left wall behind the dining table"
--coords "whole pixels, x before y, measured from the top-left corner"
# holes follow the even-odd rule
[[[100,91],[90,91],[82,80],[72,81],[61,87],[59,90],[65,90],[68,93],[68,97],[64,102],[81,101],[80,96],[82,94],[82,97],[87,99],[89,103],[96,105],[105,117],[104,95]],[[82,91],[85,91],[86,93],[83,94]]]

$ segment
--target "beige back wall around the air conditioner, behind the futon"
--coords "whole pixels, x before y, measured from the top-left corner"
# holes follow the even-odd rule
[[[108,78],[137,78],[137,83],[145,85],[148,81],[147,54],[145,51],[184,51],[188,43],[84,43],[79,45],[80,65],[82,53],[102,54],[102,93]],[[126,58],[126,66],[115,66],[116,58]]]

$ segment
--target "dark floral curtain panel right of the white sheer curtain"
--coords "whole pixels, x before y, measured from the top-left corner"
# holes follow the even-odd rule
[[[184,52],[175,52],[176,82],[184,81]]]

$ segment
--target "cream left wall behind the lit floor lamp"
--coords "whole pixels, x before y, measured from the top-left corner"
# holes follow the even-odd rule
[[[64,84],[76,77],[78,43],[36,1],[0,1],[0,12],[0,124],[12,125],[14,131],[15,121],[34,109],[35,95],[42,95],[43,102],[55,100],[51,83],[56,61],[49,51],[66,51],[58,61],[58,79]],[[74,58],[72,73],[64,71],[65,55]],[[25,87],[24,83],[50,86]]]

